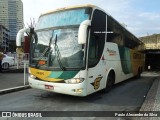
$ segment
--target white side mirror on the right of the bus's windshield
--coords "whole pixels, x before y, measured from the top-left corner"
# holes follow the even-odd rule
[[[78,44],[86,43],[88,26],[91,26],[91,20],[85,20],[80,24],[80,27],[78,30]]]

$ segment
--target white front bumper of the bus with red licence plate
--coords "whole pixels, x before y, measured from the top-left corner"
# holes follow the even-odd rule
[[[48,81],[36,80],[31,77],[29,77],[28,81],[29,81],[29,85],[32,88],[51,91],[55,93],[74,95],[74,96],[87,95],[85,82],[78,83],[78,84],[53,83]]]

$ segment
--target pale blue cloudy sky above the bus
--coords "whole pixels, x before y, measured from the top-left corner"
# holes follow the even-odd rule
[[[137,37],[160,33],[160,0],[22,0],[24,24],[41,13],[74,5],[93,4],[114,17]]]

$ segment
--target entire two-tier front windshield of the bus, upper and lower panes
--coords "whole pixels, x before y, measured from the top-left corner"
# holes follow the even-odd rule
[[[90,19],[89,11],[81,8],[41,16],[31,37],[31,66],[62,70],[84,68],[84,48],[78,44],[78,29],[81,22]],[[44,64],[39,64],[41,61]]]

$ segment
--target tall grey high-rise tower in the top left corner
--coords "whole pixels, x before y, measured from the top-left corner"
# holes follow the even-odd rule
[[[10,31],[10,43],[16,42],[17,32],[23,28],[21,0],[0,0],[0,24]]]

